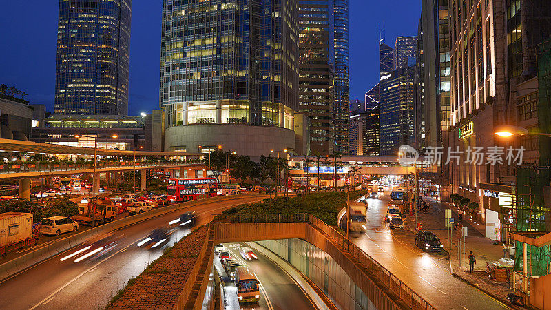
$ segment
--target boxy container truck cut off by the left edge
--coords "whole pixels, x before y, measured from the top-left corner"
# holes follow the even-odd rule
[[[0,255],[37,242],[38,234],[34,234],[31,213],[0,213]]]

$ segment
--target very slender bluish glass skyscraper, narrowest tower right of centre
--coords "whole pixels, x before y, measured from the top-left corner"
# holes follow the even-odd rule
[[[349,130],[349,1],[334,0],[335,19],[335,150],[348,151]]]

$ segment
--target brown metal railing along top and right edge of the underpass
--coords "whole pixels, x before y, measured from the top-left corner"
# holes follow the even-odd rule
[[[357,247],[353,242],[342,236],[336,229],[327,225],[319,218],[316,218],[312,214],[220,214],[215,216],[215,223],[298,223],[306,222],[313,227],[320,229],[324,234],[329,236],[337,245],[340,245],[342,249],[348,251],[352,258],[357,261],[359,265],[367,269],[382,282],[389,290],[396,292],[399,298],[403,300],[408,307],[412,309],[428,309],[435,310],[428,301],[415,293],[413,289],[408,287],[402,280],[399,280],[391,271],[388,271],[380,263],[374,260],[360,247]]]

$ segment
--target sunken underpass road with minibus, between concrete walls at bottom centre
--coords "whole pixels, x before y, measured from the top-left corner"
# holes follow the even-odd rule
[[[241,243],[225,243],[231,256],[241,265],[248,265],[260,281],[260,301],[258,304],[243,304],[240,306],[237,298],[236,285],[225,273],[220,259],[214,256],[214,265],[224,281],[225,309],[316,309],[308,296],[278,265],[266,256],[255,252],[258,260],[245,260],[240,256]]]

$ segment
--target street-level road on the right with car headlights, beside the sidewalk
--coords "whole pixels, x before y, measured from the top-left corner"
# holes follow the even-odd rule
[[[407,227],[388,228],[383,218],[389,200],[388,192],[380,199],[368,199],[367,231],[351,236],[356,245],[437,309],[509,309],[455,278],[446,252],[425,253],[415,246],[415,234]]]

